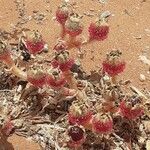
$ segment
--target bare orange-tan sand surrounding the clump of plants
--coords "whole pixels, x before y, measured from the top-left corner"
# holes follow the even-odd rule
[[[60,0],[24,1],[27,16],[33,15],[33,11],[39,11],[46,14],[46,20],[43,21],[43,24],[37,24],[32,19],[23,27],[31,30],[38,29],[51,49],[59,35],[59,25],[52,20],[52,17],[55,15]],[[77,6],[79,6],[77,10],[82,15],[89,12],[90,9],[94,10],[94,14],[105,10],[112,13],[109,20],[111,30],[108,39],[82,48],[85,51],[82,60],[84,69],[87,71],[97,69],[106,52],[120,49],[127,63],[127,68],[120,78],[131,80],[132,85],[141,90],[144,88],[150,90],[150,67],[138,60],[139,55],[142,55],[143,52],[150,58],[150,0],[107,0],[105,4],[101,4],[98,0],[74,0],[74,2],[77,2]],[[95,18],[96,16],[84,15],[83,38],[86,38],[88,24]],[[14,0],[0,0],[0,28],[10,31],[17,20],[18,11]],[[72,50],[72,54],[76,56],[77,50]],[[140,74],[145,75],[144,82],[139,80]],[[12,136],[9,141],[13,143],[15,150],[39,149],[36,144],[21,137]]]

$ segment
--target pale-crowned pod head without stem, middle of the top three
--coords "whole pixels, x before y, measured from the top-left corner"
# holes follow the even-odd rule
[[[83,31],[83,26],[80,23],[81,16],[76,13],[72,13],[68,18],[65,27],[66,33],[69,34],[71,37],[76,37],[80,35]]]

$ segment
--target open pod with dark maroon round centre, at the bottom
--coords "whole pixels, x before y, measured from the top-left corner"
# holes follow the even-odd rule
[[[70,126],[67,132],[70,138],[68,142],[70,148],[79,148],[84,143],[86,136],[83,127]]]

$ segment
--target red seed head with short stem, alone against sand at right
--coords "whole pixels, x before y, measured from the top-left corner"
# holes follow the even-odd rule
[[[122,53],[119,50],[111,51],[103,61],[103,71],[112,77],[112,82],[116,83],[116,77],[125,69],[125,62],[120,60]]]

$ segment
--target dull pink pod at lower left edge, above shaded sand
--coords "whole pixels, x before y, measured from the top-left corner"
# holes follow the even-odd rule
[[[8,120],[2,126],[1,132],[4,135],[9,136],[13,129],[14,129],[14,124],[10,120]]]

